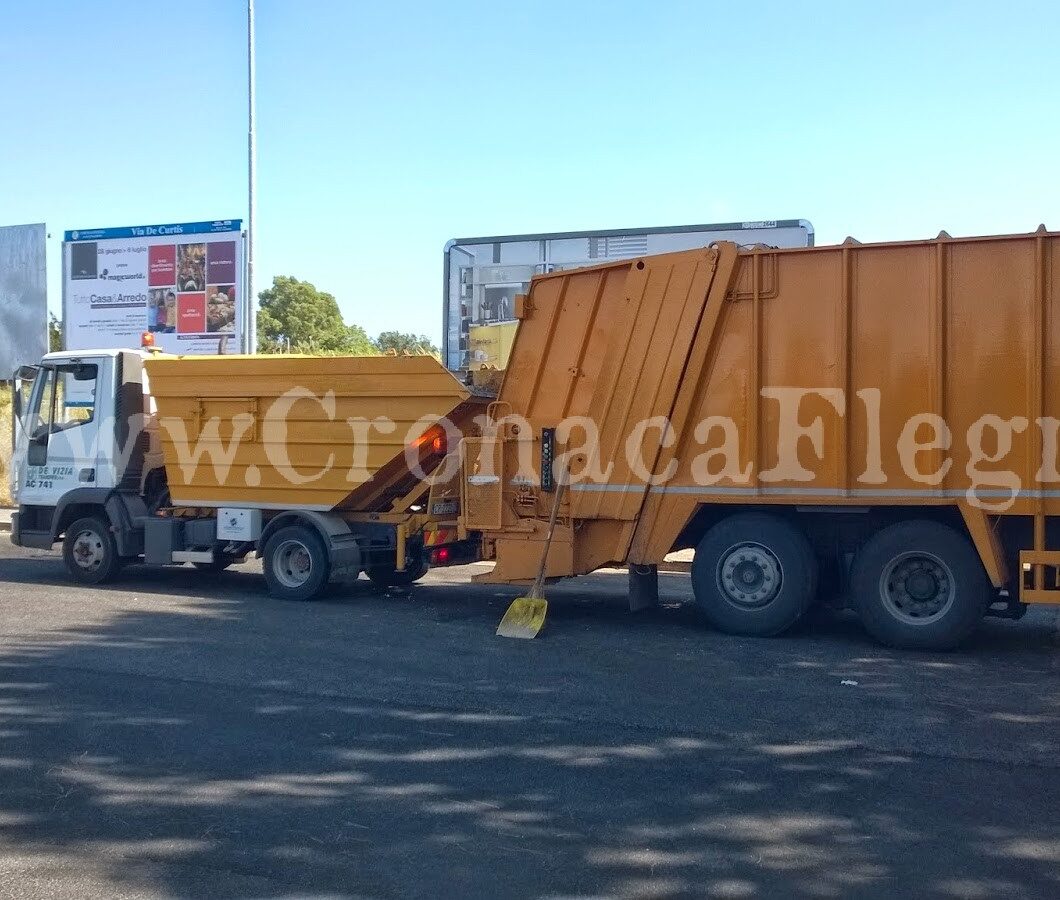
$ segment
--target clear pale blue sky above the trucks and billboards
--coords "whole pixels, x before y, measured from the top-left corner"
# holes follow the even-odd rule
[[[241,0],[38,0],[0,31],[0,224],[245,217]],[[1060,229],[1055,2],[259,0],[259,286],[441,325],[454,236],[809,218]]]

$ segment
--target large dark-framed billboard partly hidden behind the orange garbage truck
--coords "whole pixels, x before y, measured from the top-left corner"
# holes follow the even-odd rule
[[[449,241],[445,245],[442,307],[445,365],[454,372],[491,365],[480,358],[475,330],[513,321],[515,296],[529,289],[535,275],[648,253],[691,250],[714,241],[732,241],[741,246],[810,247],[813,226],[805,218],[790,218]]]

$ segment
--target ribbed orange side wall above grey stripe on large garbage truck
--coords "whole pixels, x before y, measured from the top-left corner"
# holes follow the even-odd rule
[[[1036,481],[1041,433],[1035,419],[1060,416],[1060,236],[843,245],[775,251],[775,290],[726,304],[709,366],[696,385],[694,419],[731,419],[740,433],[746,482],[719,487],[789,493],[962,492],[969,466],[1012,470],[1024,486]],[[741,254],[747,261],[749,254]],[[803,439],[798,478],[778,463],[781,404],[765,391],[811,391],[799,422],[822,422],[822,453]],[[840,409],[818,393],[832,392]],[[865,392],[871,392],[866,394]],[[879,414],[868,418],[865,396],[879,392]],[[918,416],[936,416],[951,433],[949,447],[917,453],[921,477],[911,477],[899,438]],[[971,458],[968,433],[983,416],[1025,417],[1003,461]],[[706,448],[685,429],[683,464],[673,484],[694,484],[691,463]],[[713,436],[718,443],[718,436]],[[929,440],[921,428],[918,440]],[[879,453],[884,481],[866,480]],[[987,449],[993,452],[992,448]],[[923,476],[950,464],[938,484]],[[1003,464],[1004,463],[1004,464]],[[873,464],[872,469],[877,469]],[[1057,486],[1053,486],[1056,488]],[[704,494],[711,493],[710,487]]]

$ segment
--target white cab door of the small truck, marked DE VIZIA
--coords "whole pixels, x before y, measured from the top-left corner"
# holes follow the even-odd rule
[[[74,488],[112,487],[112,466],[100,465],[110,447],[101,444],[98,405],[109,367],[107,357],[40,366],[18,426],[25,446],[17,465],[20,506],[55,506]]]

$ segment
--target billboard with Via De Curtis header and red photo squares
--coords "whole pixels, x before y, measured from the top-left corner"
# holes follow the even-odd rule
[[[243,285],[241,219],[67,231],[66,349],[140,347],[151,332],[167,353],[238,353]]]

